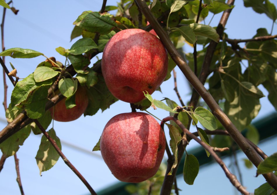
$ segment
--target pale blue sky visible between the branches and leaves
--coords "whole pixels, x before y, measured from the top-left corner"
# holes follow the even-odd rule
[[[272,2],[275,3],[276,1],[272,0]],[[4,26],[5,47],[6,49],[13,47],[34,49],[38,52],[42,52],[48,57],[55,56],[58,61],[64,63],[65,58],[59,55],[55,51],[55,48],[61,46],[69,49],[71,45],[78,40],[78,38],[76,38],[70,42],[71,31],[74,27],[72,23],[83,11],[99,11],[101,5],[102,2],[96,0],[14,0],[13,6],[20,11],[17,15],[14,15],[10,10],[6,12]],[[116,0],[108,0],[107,5],[116,5]],[[1,16],[2,13],[3,9],[0,8]],[[211,22],[211,26],[217,26],[220,17],[221,14],[215,15]],[[211,14],[208,18],[206,24],[209,22]],[[257,28],[266,28],[270,32],[271,26],[272,21],[265,14],[257,14],[253,12],[252,8],[244,8],[243,1],[235,1],[235,8],[232,10],[230,19],[226,25],[226,32],[229,34],[229,38],[252,38],[256,34]],[[273,34],[277,34],[276,24],[274,24]],[[190,46],[185,46],[185,50],[191,51],[192,49]],[[101,54],[99,54],[99,58],[101,58]],[[45,58],[41,56],[33,59],[12,59],[6,57],[6,65],[11,70],[9,66],[9,62],[11,62],[17,69],[18,76],[24,78],[34,71],[38,63],[44,60]],[[96,59],[94,59],[92,63],[95,61]],[[188,102],[190,100],[189,84],[177,68],[176,71],[179,93],[183,100]],[[0,80],[1,82],[3,81],[2,74]],[[7,80],[7,82],[9,84],[9,80]],[[178,102],[177,96],[173,91],[174,84],[172,78],[165,81],[161,88],[163,93],[155,92],[152,95],[154,98],[162,99],[162,97],[168,97]],[[12,89],[13,86],[9,84],[8,97],[10,97]],[[264,95],[267,95],[267,92],[264,91],[262,87],[261,89]],[[0,91],[0,99],[2,102],[2,84],[0,85]],[[269,103],[267,97],[261,98],[260,101],[262,108],[257,118],[274,112],[274,108]],[[54,129],[62,140],[62,151],[64,155],[66,155],[71,163],[87,179],[95,191],[108,187],[118,182],[118,180],[110,173],[101,158],[100,152],[92,153],[92,148],[99,140],[101,132],[110,118],[116,114],[130,111],[131,109],[128,103],[118,101],[103,113],[99,111],[94,116],[82,116],[76,121],[68,123],[55,122],[54,124]],[[149,109],[149,111],[161,119],[169,115],[166,111],[162,110],[154,111],[153,109]],[[0,116],[2,118],[4,117],[3,108],[0,109]],[[3,129],[5,125],[5,123],[0,123],[0,129]],[[17,153],[17,157],[20,159],[20,174],[25,194],[87,194],[88,190],[85,185],[83,185],[69,167],[64,164],[62,159],[59,159],[52,169],[43,172],[42,176],[39,175],[35,156],[40,140],[41,135],[31,134]],[[70,147],[66,143],[74,147]],[[195,146],[197,146],[197,144],[192,141],[187,149],[189,150]],[[274,152],[274,150],[272,150],[274,147],[264,146],[264,148],[268,155]],[[226,185],[230,188],[228,179],[225,177],[223,171],[217,164],[214,166],[217,167],[217,171],[213,172],[213,176],[219,178],[220,181],[226,180]],[[211,167],[211,169],[213,168]],[[201,171],[200,169],[200,172]],[[255,175],[254,168],[250,169],[250,175]],[[14,159],[10,157],[6,160],[0,174],[1,194],[20,194],[15,179]],[[204,178],[201,179],[199,173],[194,187],[199,187],[204,181]],[[262,178],[260,184],[263,182],[264,180]],[[179,183],[179,186],[186,186],[184,182],[182,183],[182,180],[180,180]],[[250,192],[253,192],[253,189],[258,186],[249,183],[247,187]],[[184,188],[185,187],[183,187],[183,189]],[[222,190],[224,190],[224,187]],[[224,194],[234,194],[233,192],[234,191],[230,190],[230,192],[224,192]],[[201,193],[199,192],[199,194]]]

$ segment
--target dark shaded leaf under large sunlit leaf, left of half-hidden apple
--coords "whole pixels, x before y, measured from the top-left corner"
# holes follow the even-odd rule
[[[27,116],[32,119],[37,119],[45,114],[45,105],[48,101],[48,88],[47,86],[42,86],[34,89],[27,99],[20,102],[17,107],[22,108],[26,111]]]

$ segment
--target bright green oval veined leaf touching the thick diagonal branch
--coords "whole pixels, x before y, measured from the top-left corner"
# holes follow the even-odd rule
[[[201,125],[208,130],[213,131],[217,129],[215,117],[209,110],[203,107],[197,107],[194,110],[194,116],[201,123]]]

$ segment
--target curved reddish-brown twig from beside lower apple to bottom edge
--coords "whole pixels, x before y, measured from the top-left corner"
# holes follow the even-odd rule
[[[208,152],[212,155],[212,157],[215,159],[215,161],[221,166],[221,168],[223,169],[223,171],[225,172],[225,175],[227,176],[227,178],[230,180],[230,182],[239,190],[239,192],[241,192],[242,194],[245,195],[249,195],[250,193],[246,191],[246,189],[241,185],[241,183],[237,180],[236,176],[233,175],[229,169],[227,168],[227,166],[225,165],[225,163],[222,161],[222,159],[215,153],[215,151],[213,150],[213,148],[211,146],[209,146],[208,144],[206,144],[204,141],[201,141],[201,139],[199,139],[197,136],[195,136],[193,133],[191,133],[189,130],[187,130],[187,128],[180,122],[180,120],[178,120],[177,118],[174,118],[173,116],[168,116],[166,118],[163,119],[164,121],[169,121],[169,120],[173,120],[184,132],[184,134],[187,134],[188,136],[190,136],[192,139],[194,139],[195,141],[197,141],[197,143],[199,143],[203,148],[205,148],[206,150],[208,150]]]

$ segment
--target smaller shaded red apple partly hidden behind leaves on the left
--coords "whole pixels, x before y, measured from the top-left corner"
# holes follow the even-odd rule
[[[55,108],[51,107],[49,109],[50,114],[54,120],[69,122],[79,118],[85,112],[88,105],[86,88],[84,86],[78,86],[75,93],[76,106],[74,106],[73,108],[66,109],[65,100],[66,98],[63,98],[55,105]]]

